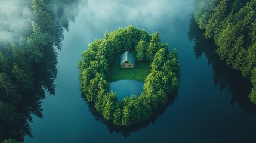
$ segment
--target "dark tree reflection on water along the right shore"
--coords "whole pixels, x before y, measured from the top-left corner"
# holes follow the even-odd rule
[[[252,88],[250,80],[242,77],[239,71],[231,69],[224,61],[220,60],[215,53],[217,49],[215,42],[213,39],[206,39],[204,33],[205,31],[199,29],[192,16],[188,38],[190,42],[195,43],[193,48],[196,58],[205,54],[208,64],[212,66],[214,71],[214,85],[220,86],[220,91],[227,89],[232,95],[230,104],[237,103],[245,113],[256,114],[256,104],[253,104],[248,97]]]

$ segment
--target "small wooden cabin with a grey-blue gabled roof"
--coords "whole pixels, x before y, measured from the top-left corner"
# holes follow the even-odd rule
[[[120,56],[120,66],[121,68],[134,68],[135,58],[131,52],[126,51]]]

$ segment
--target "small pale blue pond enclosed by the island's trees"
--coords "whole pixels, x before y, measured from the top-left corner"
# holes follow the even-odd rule
[[[131,97],[131,95],[140,95],[143,90],[143,85],[143,82],[139,82],[137,80],[118,80],[110,83],[109,90],[116,92],[118,95],[118,101],[121,101],[125,97]]]

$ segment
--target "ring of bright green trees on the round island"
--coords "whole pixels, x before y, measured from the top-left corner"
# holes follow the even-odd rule
[[[109,92],[109,64],[119,58],[122,51],[137,52],[139,61],[150,63],[151,73],[146,77],[140,96],[126,97],[118,101],[115,92]],[[176,95],[179,87],[180,64],[176,49],[161,43],[158,32],[150,35],[134,26],[118,29],[104,39],[95,39],[87,51],[82,52],[78,68],[81,92],[106,121],[117,126],[129,126],[149,119],[153,111],[163,107],[168,97]]]

